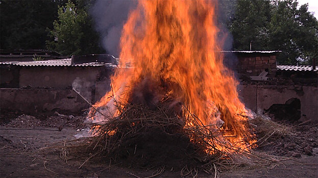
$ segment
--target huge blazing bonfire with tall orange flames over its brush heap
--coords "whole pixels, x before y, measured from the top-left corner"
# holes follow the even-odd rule
[[[211,172],[214,163],[252,149],[251,114],[219,52],[216,7],[138,2],[123,28],[111,91],[89,113],[89,158],[138,167],[193,163]]]

